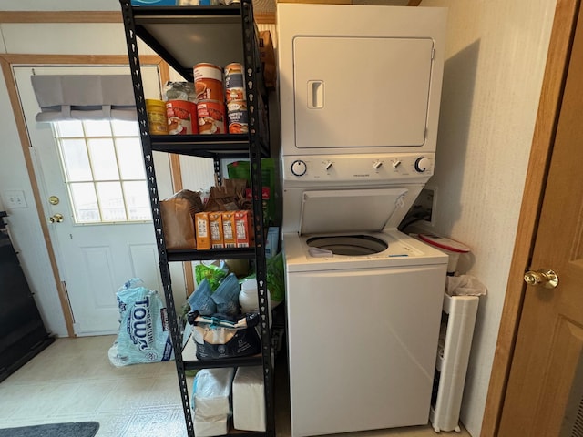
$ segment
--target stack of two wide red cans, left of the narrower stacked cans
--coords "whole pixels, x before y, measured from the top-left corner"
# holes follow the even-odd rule
[[[200,134],[224,134],[225,105],[222,69],[208,63],[194,66],[194,88]]]

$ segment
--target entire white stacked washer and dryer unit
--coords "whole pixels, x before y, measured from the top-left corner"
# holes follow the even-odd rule
[[[278,4],[293,437],[428,422],[447,256],[397,226],[434,170],[445,20]]]

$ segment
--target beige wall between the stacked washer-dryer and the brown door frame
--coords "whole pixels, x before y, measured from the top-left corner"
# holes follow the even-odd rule
[[[555,0],[424,0],[449,8],[435,228],[472,248],[481,298],[461,420],[480,435]]]

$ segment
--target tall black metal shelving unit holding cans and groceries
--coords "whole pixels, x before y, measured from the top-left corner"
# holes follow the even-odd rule
[[[267,90],[263,83],[259,56],[259,38],[253,21],[251,0],[241,0],[240,4],[229,6],[132,6],[130,0],[120,0],[120,4],[138,109],[152,218],[159,250],[159,269],[169,312],[170,335],[174,347],[179,389],[189,437],[195,437],[195,433],[185,371],[256,365],[263,367],[266,431],[237,431],[237,433],[250,436],[274,436],[273,367],[269,323],[271,314],[267,306],[265,234],[261,208],[261,158],[269,157],[270,154],[268,107]],[[210,62],[219,66],[240,62],[244,65],[249,134],[150,136],[138,56],[138,38],[189,82],[193,80],[192,68],[199,62]],[[249,158],[251,161],[254,248],[167,250],[162,231],[153,151],[212,158],[219,179],[221,159]],[[169,262],[208,259],[254,260],[259,298],[262,302],[260,305],[261,354],[217,361],[184,359],[181,347],[184,330],[174,304]]]

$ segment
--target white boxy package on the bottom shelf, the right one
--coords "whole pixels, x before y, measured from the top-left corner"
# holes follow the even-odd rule
[[[237,369],[233,380],[233,426],[236,430],[265,431],[263,390],[261,366]]]

